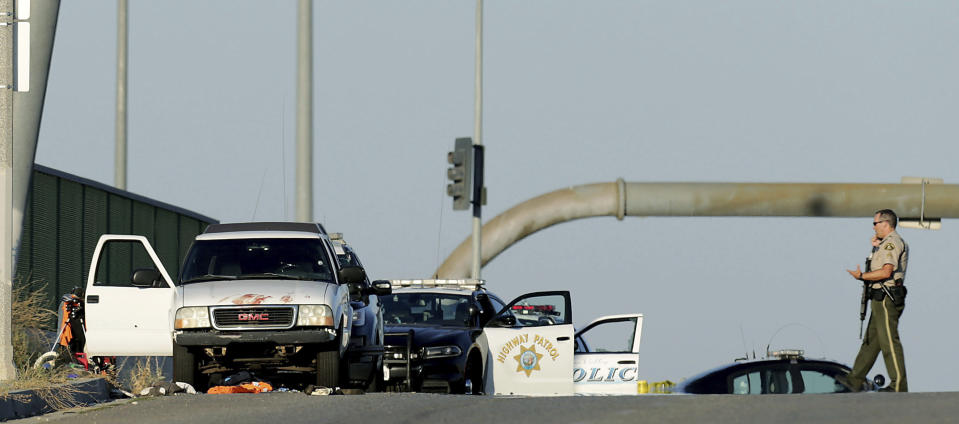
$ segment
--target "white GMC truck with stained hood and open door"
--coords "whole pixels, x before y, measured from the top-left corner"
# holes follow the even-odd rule
[[[326,387],[372,384],[383,347],[351,344],[358,267],[338,264],[314,223],[214,224],[171,278],[145,237],[104,235],[84,292],[93,356],[173,356],[175,381],[204,389],[239,369],[313,372]],[[354,287],[351,287],[354,286]],[[376,323],[382,326],[382,323]],[[380,330],[382,334],[382,330]]]

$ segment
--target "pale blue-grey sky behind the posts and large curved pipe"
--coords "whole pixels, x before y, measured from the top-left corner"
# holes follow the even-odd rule
[[[130,3],[128,189],[221,222],[292,220],[296,2]],[[61,2],[36,158],[107,184],[115,7]],[[445,175],[473,132],[474,11],[314,5],[315,218],[373,278],[428,277],[470,233]],[[487,0],[485,25],[484,220],[619,177],[959,183],[957,2]],[[959,389],[959,222],[943,227],[900,231],[913,391]],[[871,217],[594,218],[523,240],[483,278],[507,299],[571,290],[578,326],[644,313],[649,381],[767,344],[851,365],[860,286],[844,269],[871,234]]]

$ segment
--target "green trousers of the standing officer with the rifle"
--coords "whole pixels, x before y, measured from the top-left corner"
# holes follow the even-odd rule
[[[856,362],[849,372],[849,381],[862,384],[881,351],[882,359],[886,361],[886,372],[889,373],[888,387],[897,392],[908,391],[906,362],[902,356],[902,343],[899,342],[899,317],[902,316],[905,305],[896,306],[886,296],[881,301],[870,301],[869,307],[872,308],[869,326],[862,339],[859,354],[856,355]]]

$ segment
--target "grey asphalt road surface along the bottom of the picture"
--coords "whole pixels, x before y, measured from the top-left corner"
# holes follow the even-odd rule
[[[134,402],[135,401],[135,402]],[[959,420],[959,392],[489,397],[302,393],[139,398],[11,423],[915,423]]]

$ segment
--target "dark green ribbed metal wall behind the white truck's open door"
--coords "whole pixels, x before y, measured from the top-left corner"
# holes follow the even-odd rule
[[[215,219],[40,165],[34,166],[14,284],[45,286],[50,308],[86,284],[103,234],[150,240],[176,278],[193,238]]]

